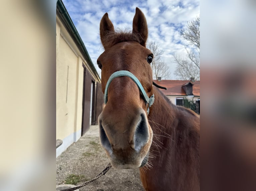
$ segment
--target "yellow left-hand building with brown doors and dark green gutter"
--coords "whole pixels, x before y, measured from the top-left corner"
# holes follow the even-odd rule
[[[76,142],[104,105],[101,79],[63,2],[56,3],[56,157]]]

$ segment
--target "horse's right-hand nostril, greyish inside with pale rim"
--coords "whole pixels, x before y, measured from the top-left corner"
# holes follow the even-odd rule
[[[149,139],[149,130],[148,124],[145,118],[145,114],[141,114],[141,120],[137,124],[135,133],[134,133],[134,149],[139,151]]]

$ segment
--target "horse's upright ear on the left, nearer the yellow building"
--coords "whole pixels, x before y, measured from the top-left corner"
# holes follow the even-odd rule
[[[114,25],[111,22],[111,20],[108,18],[108,13],[105,13],[100,23],[101,43],[105,49],[108,47],[105,37],[110,32],[115,32]]]

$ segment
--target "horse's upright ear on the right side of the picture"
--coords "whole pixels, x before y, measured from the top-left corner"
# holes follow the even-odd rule
[[[132,23],[132,33],[139,34],[142,37],[141,45],[146,47],[146,41],[148,38],[147,21],[142,11],[136,7],[136,13]]]

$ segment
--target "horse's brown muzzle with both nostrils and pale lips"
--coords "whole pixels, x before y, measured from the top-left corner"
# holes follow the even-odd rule
[[[145,111],[141,110],[133,121],[135,122],[130,122],[133,125],[129,125],[124,131],[124,126],[118,127],[99,117],[100,142],[114,168],[139,168],[148,161],[152,130]]]

